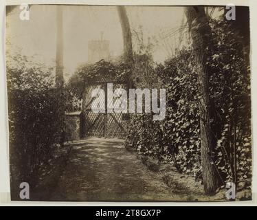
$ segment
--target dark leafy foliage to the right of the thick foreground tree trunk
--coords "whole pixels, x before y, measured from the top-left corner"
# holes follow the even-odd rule
[[[249,64],[245,63],[243,39],[229,22],[212,21],[212,31],[216,41],[208,65],[212,68],[215,130],[219,131],[215,133],[216,165],[225,181],[242,181],[252,177]]]

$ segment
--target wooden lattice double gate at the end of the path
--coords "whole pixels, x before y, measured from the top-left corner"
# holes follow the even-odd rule
[[[119,82],[98,82],[90,83],[86,86],[83,94],[83,122],[82,130],[84,137],[118,137],[124,138],[126,136],[126,129],[128,125],[128,114],[126,113],[107,113],[107,83],[113,83],[113,91],[118,88],[126,89],[128,91],[128,84],[124,81]],[[104,98],[100,99],[104,103],[105,112],[95,113],[92,111],[91,93],[93,89],[103,89]],[[115,106],[113,106],[115,108]]]

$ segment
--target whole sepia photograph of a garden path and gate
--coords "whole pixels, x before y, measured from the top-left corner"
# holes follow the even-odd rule
[[[6,5],[5,65],[12,201],[252,201],[248,6]]]

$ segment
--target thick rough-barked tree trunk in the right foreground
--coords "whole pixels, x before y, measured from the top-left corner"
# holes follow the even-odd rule
[[[206,65],[207,50],[211,42],[211,30],[205,10],[202,6],[186,7],[186,17],[192,36],[192,46],[197,62],[199,85],[199,113],[201,133],[201,164],[203,167],[203,186],[205,194],[213,195],[218,187],[217,173],[212,161],[214,137],[211,129],[212,107],[210,102],[209,78],[210,72]]]

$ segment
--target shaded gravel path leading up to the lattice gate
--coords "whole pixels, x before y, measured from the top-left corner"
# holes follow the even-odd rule
[[[50,201],[185,201],[149,171],[122,140],[90,138],[72,144]]]

